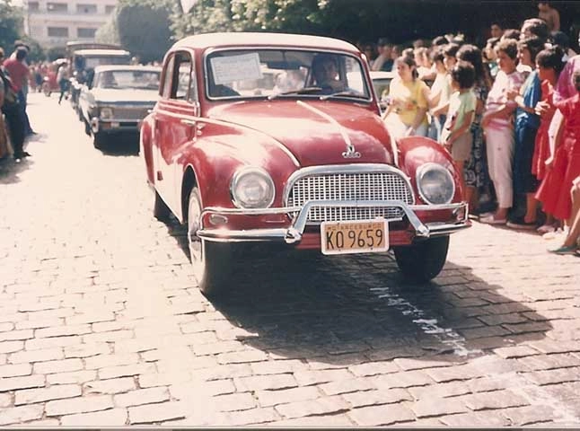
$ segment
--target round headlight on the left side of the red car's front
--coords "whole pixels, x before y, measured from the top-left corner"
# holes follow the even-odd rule
[[[274,202],[274,181],[261,168],[235,172],[231,185],[233,204],[241,208],[268,208]]]

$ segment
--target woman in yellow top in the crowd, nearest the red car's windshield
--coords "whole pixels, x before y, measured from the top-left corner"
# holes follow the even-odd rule
[[[389,107],[382,119],[394,138],[427,136],[429,87],[418,78],[413,57],[397,58],[395,68],[399,76],[391,81]]]

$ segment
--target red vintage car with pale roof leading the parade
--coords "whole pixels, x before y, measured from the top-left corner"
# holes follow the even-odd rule
[[[356,47],[306,35],[214,33],[175,43],[141,128],[154,216],[188,226],[208,296],[249,242],[325,254],[394,251],[416,280],[441,271],[470,225],[449,154],[398,142]]]

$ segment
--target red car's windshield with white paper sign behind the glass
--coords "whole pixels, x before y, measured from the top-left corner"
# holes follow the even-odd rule
[[[281,97],[370,99],[361,61],[345,53],[236,49],[207,56],[211,99]]]

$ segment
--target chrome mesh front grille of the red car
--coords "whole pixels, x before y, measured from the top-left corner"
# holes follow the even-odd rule
[[[302,207],[309,200],[396,200],[412,205],[413,194],[398,172],[347,172],[308,175],[296,180],[288,195],[288,206]],[[398,219],[403,214],[398,207],[312,207],[308,222]]]

